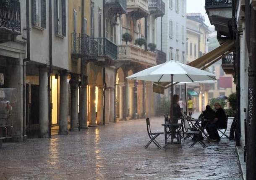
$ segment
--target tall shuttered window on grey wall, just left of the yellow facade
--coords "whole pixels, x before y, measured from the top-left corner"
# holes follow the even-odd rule
[[[55,33],[66,35],[66,1],[55,1]]]

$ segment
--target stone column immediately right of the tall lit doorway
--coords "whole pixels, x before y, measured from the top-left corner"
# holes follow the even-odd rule
[[[68,75],[66,71],[60,73],[60,129],[59,135],[68,134]]]

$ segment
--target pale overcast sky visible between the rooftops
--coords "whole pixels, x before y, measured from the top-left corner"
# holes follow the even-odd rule
[[[210,26],[209,18],[204,9],[205,0],[187,0],[187,13],[201,13],[205,16],[206,25]]]

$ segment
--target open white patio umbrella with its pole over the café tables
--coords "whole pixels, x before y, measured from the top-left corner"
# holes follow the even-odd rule
[[[215,75],[199,68],[178,63],[176,61],[167,61],[166,63],[153,66],[131,76],[126,77],[130,80],[142,80],[153,82],[171,82],[173,96],[173,82],[194,82],[216,80]],[[170,116],[172,117],[172,104]],[[171,118],[172,119],[172,118]]]

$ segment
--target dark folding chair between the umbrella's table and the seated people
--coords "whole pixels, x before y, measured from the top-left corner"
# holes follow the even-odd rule
[[[193,137],[195,137],[194,142],[192,143],[192,145],[189,148],[193,147],[197,142],[199,142],[199,144],[205,148],[206,145],[204,144],[202,139],[199,138],[199,137],[202,137],[202,132],[204,131],[204,127],[202,129],[200,129],[200,131],[193,131],[193,130],[191,130],[191,126],[188,123],[187,119],[183,118],[182,121],[183,121],[184,129],[185,129],[184,133],[186,134],[183,141],[185,141],[185,139],[188,139],[189,137],[193,136]]]

